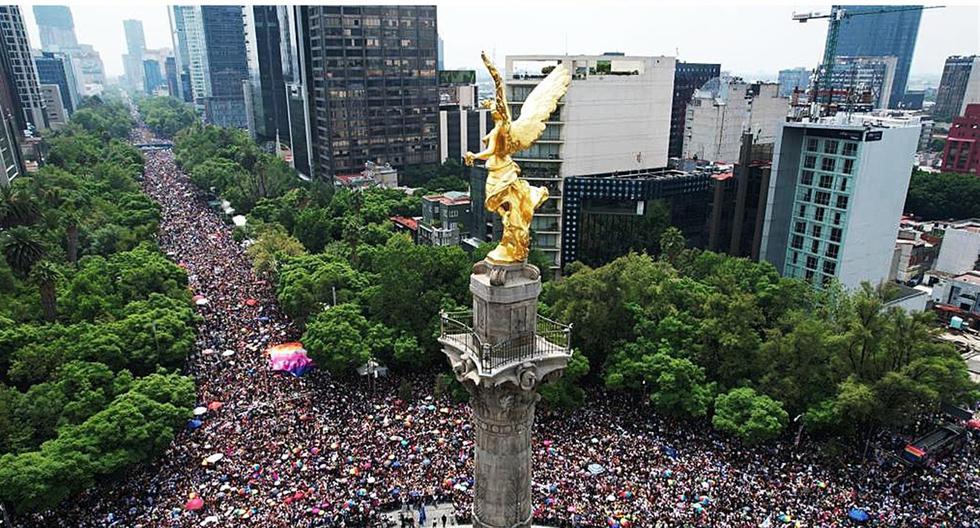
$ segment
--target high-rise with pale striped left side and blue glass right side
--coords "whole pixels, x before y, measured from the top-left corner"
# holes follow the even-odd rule
[[[246,128],[242,7],[173,6],[170,22],[177,68],[190,80],[194,106],[209,123]]]

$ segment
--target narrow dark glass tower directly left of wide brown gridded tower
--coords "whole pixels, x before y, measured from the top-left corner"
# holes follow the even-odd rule
[[[286,76],[290,69],[287,6],[245,6],[248,51],[248,130],[260,141],[289,143]],[[292,80],[291,78],[289,80]]]

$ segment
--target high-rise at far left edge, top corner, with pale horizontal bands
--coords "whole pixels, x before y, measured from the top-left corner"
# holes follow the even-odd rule
[[[20,102],[21,116],[18,118],[20,130],[48,128],[44,110],[44,97],[37,82],[37,70],[31,56],[31,45],[27,40],[27,30],[20,7],[0,6],[0,48],[2,48],[3,74],[16,91]]]

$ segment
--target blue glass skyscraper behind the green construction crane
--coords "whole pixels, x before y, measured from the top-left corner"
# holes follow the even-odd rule
[[[874,12],[882,8],[910,6],[834,6],[833,11],[844,9],[846,13]],[[922,10],[911,9],[893,13],[875,13],[849,16],[840,21],[837,37],[836,57],[867,56],[895,57],[895,81],[888,100],[891,106],[900,103],[905,97],[905,87],[915,51],[915,39],[919,35],[919,20]],[[828,43],[830,33],[828,31]]]

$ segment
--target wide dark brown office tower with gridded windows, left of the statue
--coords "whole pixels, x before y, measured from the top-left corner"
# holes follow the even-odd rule
[[[312,153],[330,178],[439,161],[436,7],[307,6]]]

